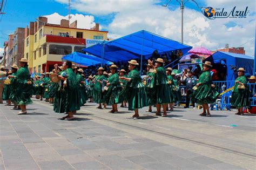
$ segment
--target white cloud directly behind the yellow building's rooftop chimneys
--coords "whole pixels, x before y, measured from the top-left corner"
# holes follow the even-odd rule
[[[80,29],[90,29],[93,26],[95,26],[94,17],[91,15],[82,15],[82,14],[76,14],[76,15],[70,15],[70,23],[77,20],[77,28]],[[50,24],[60,24],[61,19],[69,19],[69,16],[61,16],[58,13],[52,13],[51,15],[45,15],[44,17],[48,18],[48,23]]]

